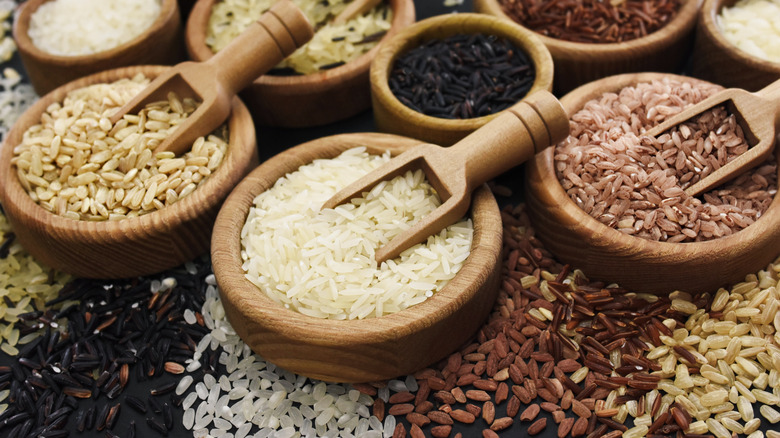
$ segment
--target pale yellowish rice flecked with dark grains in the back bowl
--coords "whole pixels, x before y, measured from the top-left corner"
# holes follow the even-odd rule
[[[230,44],[250,24],[257,21],[275,0],[223,0],[214,5],[209,17],[206,44],[215,53]],[[380,4],[362,16],[342,25],[330,23],[349,1],[293,0],[317,29],[314,37],[282,61],[278,69],[300,74],[347,63],[371,50],[390,29],[392,9]]]

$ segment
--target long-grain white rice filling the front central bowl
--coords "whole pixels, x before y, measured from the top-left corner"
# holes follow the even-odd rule
[[[302,166],[258,195],[241,232],[246,278],[287,308],[329,319],[398,312],[441,290],[469,255],[470,219],[380,266],[374,259],[378,247],[439,205],[422,171],[320,210],[339,189],[389,159],[350,149]]]

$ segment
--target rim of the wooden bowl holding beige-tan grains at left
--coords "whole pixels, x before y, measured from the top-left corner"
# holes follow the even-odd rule
[[[19,118],[23,121],[27,117],[35,115],[36,124],[39,123],[40,114],[53,102],[62,102],[64,97],[71,90],[82,88],[87,85],[114,81],[121,78],[131,78],[138,73],[144,73],[147,77],[155,77],[169,66],[161,65],[138,65],[129,67],[120,67],[112,70],[106,70],[94,73],[89,76],[69,82],[57,87],[46,95],[42,96],[30,108],[28,108]],[[249,110],[238,99],[234,98],[231,108],[231,116],[228,120],[228,150],[223,157],[219,167],[198,186],[189,196],[173,203],[161,210],[136,216],[124,218],[115,221],[88,221],[69,219],[55,213],[49,212],[27,194],[17,177],[17,172],[13,170],[11,158],[14,156],[13,149],[18,144],[24,132],[30,126],[22,126],[15,123],[8,131],[2,148],[0,149],[0,160],[3,165],[0,166],[0,202],[8,211],[7,205],[9,199],[15,199],[16,207],[14,211],[18,214],[16,220],[22,223],[34,223],[40,227],[45,226],[51,235],[58,235],[60,238],[78,239],[87,243],[118,242],[124,240],[127,236],[145,233],[144,230],[160,229],[173,230],[176,227],[191,221],[194,217],[206,213],[210,208],[219,203],[220,199],[232,188],[223,187],[234,176],[231,172],[237,163],[242,160],[249,160],[252,151],[246,151],[247,148],[237,148],[235,145],[244,144],[248,136],[254,136],[254,125],[248,123],[246,126],[239,126],[238,120],[250,120]],[[251,135],[248,133],[251,126]],[[221,192],[224,192],[220,195]],[[195,196],[193,196],[195,195]],[[111,233],[109,233],[111,231]],[[115,231],[118,231],[116,233]]]

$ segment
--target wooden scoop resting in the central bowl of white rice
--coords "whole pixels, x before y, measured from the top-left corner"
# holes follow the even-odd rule
[[[382,263],[463,217],[477,186],[568,134],[566,111],[552,94],[538,91],[453,146],[423,144],[398,155],[333,195],[323,208],[334,208],[407,170],[422,169],[442,205],[378,249],[375,258]]]

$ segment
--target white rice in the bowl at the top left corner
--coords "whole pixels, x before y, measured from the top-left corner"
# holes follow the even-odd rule
[[[90,55],[141,35],[160,9],[161,0],[54,0],[30,16],[28,34],[44,52]]]

